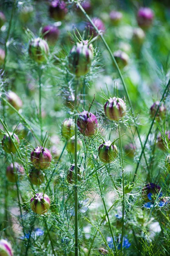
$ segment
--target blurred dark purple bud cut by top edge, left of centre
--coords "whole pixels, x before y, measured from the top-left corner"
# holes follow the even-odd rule
[[[54,20],[64,20],[65,15],[67,14],[68,9],[66,4],[62,0],[54,0],[50,3],[49,13],[50,17]]]

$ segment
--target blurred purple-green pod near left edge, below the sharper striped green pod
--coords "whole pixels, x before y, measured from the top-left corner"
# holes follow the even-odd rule
[[[19,163],[11,163],[10,166],[6,168],[6,177],[8,181],[15,183],[18,181],[18,177],[23,178],[24,168]]]

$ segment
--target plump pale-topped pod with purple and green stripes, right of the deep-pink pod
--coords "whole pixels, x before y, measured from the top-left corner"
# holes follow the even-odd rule
[[[126,114],[126,105],[121,98],[108,99],[104,105],[105,115],[109,120],[119,121]]]

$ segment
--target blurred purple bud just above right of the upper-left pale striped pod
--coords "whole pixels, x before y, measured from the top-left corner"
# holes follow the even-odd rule
[[[47,25],[42,29],[42,35],[49,45],[55,45],[59,37],[59,29],[57,26]]]

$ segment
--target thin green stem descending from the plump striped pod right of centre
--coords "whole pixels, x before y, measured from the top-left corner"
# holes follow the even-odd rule
[[[120,133],[120,125],[118,123],[119,128],[119,147],[120,147],[120,162],[121,162],[121,169],[122,169],[122,237],[121,237],[121,247],[120,247],[120,255],[122,255],[123,249],[123,237],[124,237],[124,224],[125,224],[125,169],[124,169],[124,160],[123,160],[123,148],[122,148],[122,137]]]

